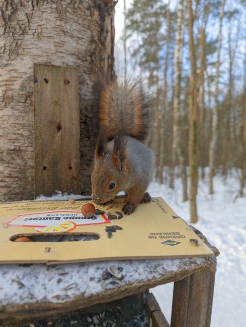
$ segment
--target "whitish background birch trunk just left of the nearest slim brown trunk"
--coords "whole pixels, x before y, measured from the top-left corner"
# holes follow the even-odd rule
[[[174,52],[175,87],[174,87],[174,127],[173,127],[173,149],[172,162],[174,163],[177,155],[181,170],[183,201],[187,201],[187,176],[185,166],[185,155],[182,147],[182,127],[181,127],[181,76],[182,76],[182,54],[184,46],[184,0],[179,0],[176,44]],[[174,167],[171,171],[171,181],[174,180]],[[172,183],[173,184],[173,183]]]

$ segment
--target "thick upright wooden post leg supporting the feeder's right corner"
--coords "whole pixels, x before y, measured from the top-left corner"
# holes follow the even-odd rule
[[[214,271],[200,271],[174,283],[171,327],[209,327]]]

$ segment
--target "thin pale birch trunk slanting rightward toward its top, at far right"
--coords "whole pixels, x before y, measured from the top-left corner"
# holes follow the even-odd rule
[[[212,135],[209,145],[209,194],[214,193],[213,189],[213,176],[214,176],[214,163],[215,163],[215,150],[218,138],[218,93],[219,93],[219,66],[220,66],[220,51],[222,45],[222,20],[224,16],[225,0],[221,0],[221,10],[219,14],[219,36],[218,36],[218,49],[216,60],[215,72],[215,92],[214,92],[214,108],[212,114]]]

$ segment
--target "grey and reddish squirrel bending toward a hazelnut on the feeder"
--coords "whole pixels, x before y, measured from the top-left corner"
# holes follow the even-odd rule
[[[153,175],[154,154],[143,144],[149,122],[149,97],[141,79],[113,78],[101,89],[99,136],[91,175],[92,199],[110,202],[120,192],[128,198],[122,208],[131,214],[139,203],[150,202],[145,192]]]

